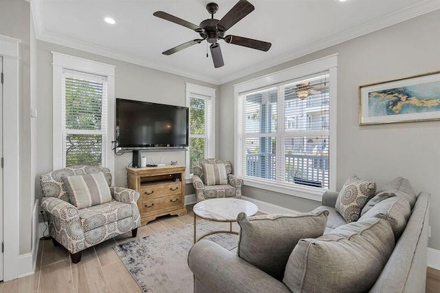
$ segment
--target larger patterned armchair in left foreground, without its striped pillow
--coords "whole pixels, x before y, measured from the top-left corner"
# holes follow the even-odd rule
[[[41,175],[41,207],[49,215],[49,232],[55,246],[69,250],[72,262],[81,260],[81,252],[102,241],[132,231],[136,237],[140,214],[139,193],[129,188],[110,186],[112,201],[78,209],[71,204],[62,177],[103,172],[111,185],[111,173],[96,166],[71,166]]]

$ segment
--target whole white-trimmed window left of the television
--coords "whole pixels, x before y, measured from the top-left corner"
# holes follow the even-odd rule
[[[114,170],[114,66],[53,52],[54,169]]]

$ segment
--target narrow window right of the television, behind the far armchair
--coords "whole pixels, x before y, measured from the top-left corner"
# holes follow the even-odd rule
[[[187,177],[192,164],[215,157],[215,89],[186,83],[186,105],[189,107],[189,146]]]

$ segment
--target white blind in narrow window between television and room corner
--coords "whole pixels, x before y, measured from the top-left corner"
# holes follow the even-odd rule
[[[192,164],[198,160],[213,155],[210,150],[214,148],[212,124],[214,123],[212,113],[212,98],[198,94],[190,94],[190,173],[192,173]]]

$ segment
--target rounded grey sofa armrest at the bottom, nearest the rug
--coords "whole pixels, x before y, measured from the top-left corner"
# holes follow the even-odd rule
[[[212,241],[195,243],[188,265],[206,292],[290,292],[282,282]]]

